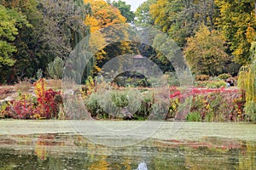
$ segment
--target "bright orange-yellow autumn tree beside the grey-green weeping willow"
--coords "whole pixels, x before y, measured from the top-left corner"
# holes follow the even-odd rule
[[[94,55],[93,73],[95,74],[101,71],[102,65],[108,59],[131,52],[131,44],[130,42],[121,42],[119,40],[119,37],[127,37],[128,33],[122,29],[126,25],[126,19],[118,8],[114,8],[103,0],[84,0],[84,3],[90,3],[92,9],[92,14],[88,15],[84,20],[84,24],[90,27],[90,32],[96,37],[90,38],[90,45],[96,44],[97,47],[100,46],[99,44],[102,44],[102,48],[98,49],[98,52]],[[111,27],[119,25],[120,29],[118,27],[112,29]],[[108,29],[108,34],[102,34],[102,29]],[[116,39],[117,43],[104,47],[103,44],[108,37]]]

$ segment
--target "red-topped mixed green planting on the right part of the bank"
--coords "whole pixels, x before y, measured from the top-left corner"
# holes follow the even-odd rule
[[[192,98],[189,115],[188,113],[185,115],[187,118],[189,117],[189,121],[196,119],[202,122],[236,122],[245,119],[243,111],[245,101],[237,89],[191,88],[180,92],[177,88],[172,87],[170,91],[170,111],[173,117],[177,116],[177,107],[181,102]],[[183,116],[183,118],[185,117]]]

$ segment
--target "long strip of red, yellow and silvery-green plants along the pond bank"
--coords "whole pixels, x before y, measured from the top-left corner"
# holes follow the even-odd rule
[[[73,107],[66,108],[64,111],[61,93],[46,89],[46,82],[41,79],[34,85],[36,96],[20,94],[18,99],[4,102],[0,106],[0,118],[82,119],[78,114],[81,112],[79,105],[85,105],[87,111],[90,112],[88,117],[95,119],[147,120],[150,119],[150,116],[160,115],[160,110],[155,110],[156,99],[164,97],[167,99],[166,108],[169,107],[169,110],[166,111],[166,120],[181,119],[189,122],[247,121],[247,116],[244,113],[245,98],[241,96],[237,88],[178,89],[171,87],[170,105],[168,105],[168,94],[159,96],[159,94],[166,94],[166,91],[160,91],[157,94],[153,88],[137,88],[138,91],[136,91],[133,88],[112,87],[110,94],[102,94],[99,92],[101,86],[102,84],[98,87],[91,85],[83,88],[85,91],[81,90],[82,100],[74,100]],[[134,100],[137,99],[137,95],[140,95],[141,98],[139,103]],[[128,99],[129,97],[130,99]],[[113,107],[110,105],[111,103],[117,107]],[[112,114],[109,114],[108,111],[112,111]],[[152,112],[155,112],[156,115]],[[81,114],[84,115],[84,113]],[[163,118],[165,117],[160,117],[160,119]]]

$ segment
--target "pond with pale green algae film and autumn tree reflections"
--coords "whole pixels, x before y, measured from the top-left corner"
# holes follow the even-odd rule
[[[42,128],[52,125],[38,123],[0,122],[0,169],[256,169],[253,124],[184,123],[179,135],[166,133],[161,138],[163,135],[157,133],[137,144],[109,147],[94,144],[71,128],[63,133],[54,129],[43,132]],[[18,126],[25,128],[25,124],[35,133],[14,130]],[[40,133],[37,126],[41,127]],[[170,122],[159,131],[165,132],[167,126]],[[13,130],[7,133],[9,128]]]

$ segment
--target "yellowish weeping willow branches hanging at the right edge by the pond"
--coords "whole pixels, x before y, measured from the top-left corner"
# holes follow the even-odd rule
[[[250,120],[256,121],[256,42],[251,47],[252,64],[242,66],[239,71],[238,86],[246,96],[245,111]]]

